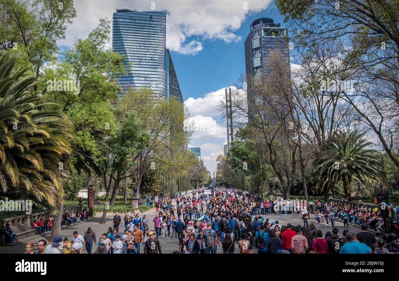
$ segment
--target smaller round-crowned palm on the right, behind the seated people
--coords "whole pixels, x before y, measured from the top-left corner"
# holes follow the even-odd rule
[[[313,173],[316,189],[326,194],[338,181],[342,181],[344,193],[349,195],[352,179],[365,184],[381,178],[381,159],[378,151],[365,149],[371,145],[364,134],[340,132],[332,138],[315,161]]]

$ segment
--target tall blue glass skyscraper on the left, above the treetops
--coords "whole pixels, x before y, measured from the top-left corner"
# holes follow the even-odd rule
[[[183,102],[170,51],[166,43],[166,11],[137,12],[118,9],[113,14],[112,47],[126,56],[128,74],[118,83],[129,87],[151,88],[159,97],[170,94]]]

